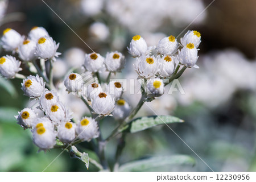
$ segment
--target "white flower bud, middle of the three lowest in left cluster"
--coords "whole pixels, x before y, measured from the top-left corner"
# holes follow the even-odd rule
[[[58,126],[57,137],[63,143],[71,143],[76,138],[76,123],[63,122]]]

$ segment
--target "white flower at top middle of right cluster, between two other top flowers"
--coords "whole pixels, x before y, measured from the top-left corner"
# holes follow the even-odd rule
[[[177,48],[179,47],[179,43],[174,36],[168,36],[159,40],[158,46],[156,47],[158,53],[163,55],[173,55]]]

